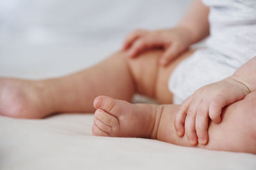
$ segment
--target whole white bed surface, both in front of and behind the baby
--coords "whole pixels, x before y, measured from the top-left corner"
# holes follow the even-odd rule
[[[0,76],[49,78],[92,66],[118,50],[132,29],[171,27],[188,2],[3,0]],[[0,169],[256,169],[248,153],[92,136],[92,120],[93,113],[0,116]]]

